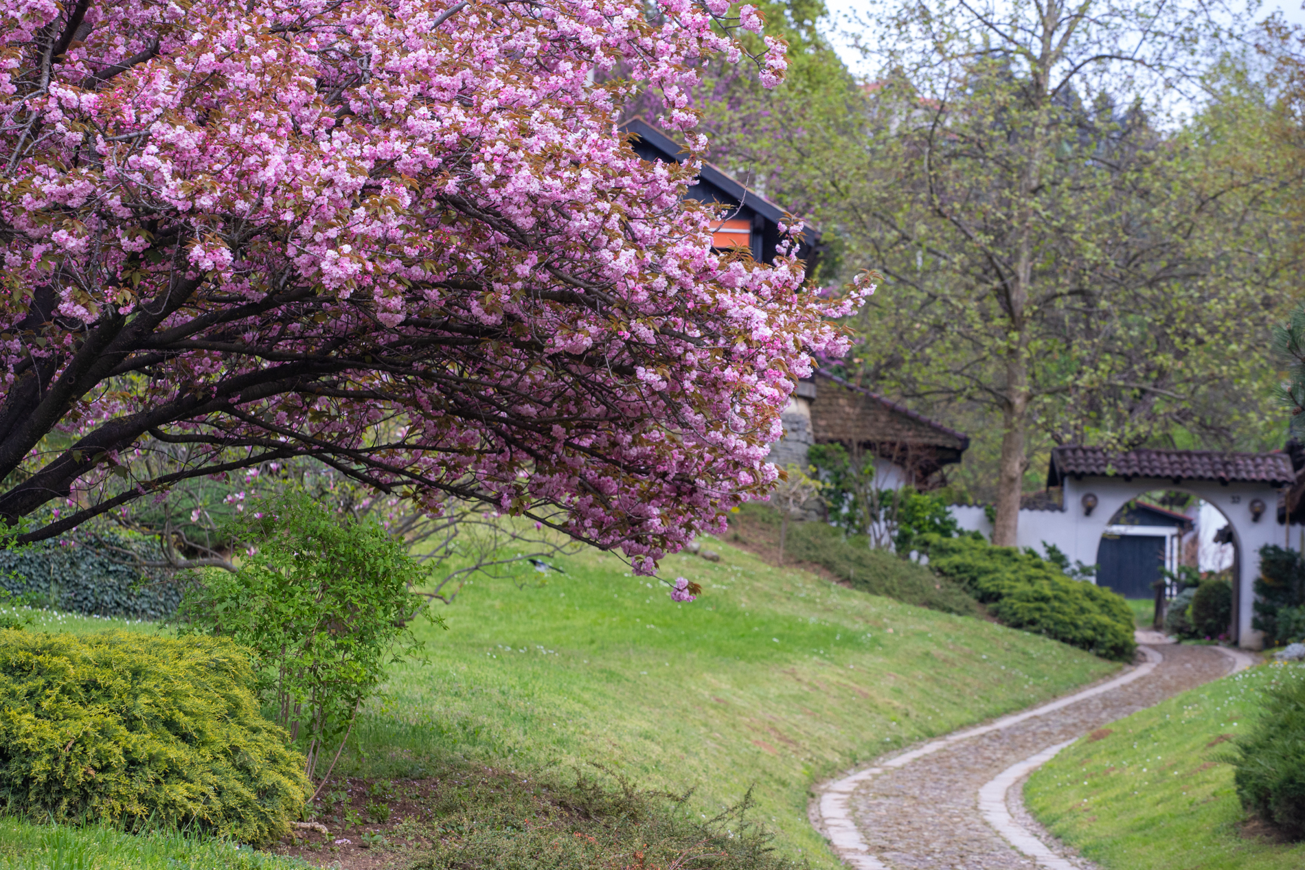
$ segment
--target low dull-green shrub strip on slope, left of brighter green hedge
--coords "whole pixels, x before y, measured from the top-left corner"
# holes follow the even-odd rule
[[[729,518],[743,544],[778,547],[779,511],[766,505],[748,503]],[[820,565],[853,588],[897,599],[906,604],[975,616],[975,600],[959,586],[915,562],[882,549],[870,549],[864,535],[846,536],[829,523],[788,526],[787,558]]]

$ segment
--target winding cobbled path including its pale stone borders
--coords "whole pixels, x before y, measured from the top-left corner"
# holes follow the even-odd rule
[[[1142,664],[826,783],[813,822],[856,870],[1092,867],[1041,831],[1014,787],[1083,734],[1254,663],[1238,650],[1138,634]]]

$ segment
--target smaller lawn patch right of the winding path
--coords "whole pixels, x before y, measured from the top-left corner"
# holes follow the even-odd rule
[[[1265,665],[1207,683],[1081,740],[1035,772],[1028,807],[1112,870],[1287,870],[1305,844],[1241,836],[1227,736],[1245,732],[1259,689],[1305,670]],[[1100,734],[1101,732],[1098,732]]]

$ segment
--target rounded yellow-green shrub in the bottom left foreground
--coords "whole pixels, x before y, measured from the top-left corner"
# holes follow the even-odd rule
[[[230,640],[0,631],[0,803],[274,840],[308,781],[252,683]]]

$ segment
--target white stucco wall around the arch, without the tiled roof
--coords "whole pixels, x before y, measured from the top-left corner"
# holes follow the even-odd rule
[[[1258,650],[1263,646],[1263,637],[1250,627],[1250,621],[1254,616],[1254,580],[1259,575],[1259,548],[1265,544],[1292,547],[1292,532],[1296,532],[1296,536],[1300,532],[1298,527],[1278,524],[1274,513],[1279,490],[1274,487],[1218,481],[1182,481],[1176,485],[1172,480],[1160,477],[1134,477],[1131,481],[1122,477],[1066,479],[1065,510],[1019,511],[1017,545],[1031,547],[1041,553],[1045,541],[1058,547],[1070,562],[1095,565],[1096,548],[1116,511],[1142,493],[1156,489],[1177,489],[1203,498],[1219,509],[1232,524],[1240,554],[1237,584],[1233,591],[1237,640],[1242,647]],[[1091,515],[1086,515],[1082,506],[1082,498],[1087,493],[1095,494],[1098,500]],[[1259,522],[1254,522],[1250,513],[1250,503],[1255,498],[1265,502],[1265,513]],[[985,537],[992,536],[992,523],[984,517],[983,507],[955,506],[951,509],[951,515],[962,528],[981,532]]]

